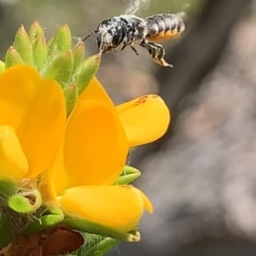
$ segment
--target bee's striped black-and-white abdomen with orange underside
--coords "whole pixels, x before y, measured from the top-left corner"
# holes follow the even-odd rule
[[[149,42],[160,42],[175,38],[185,30],[181,15],[153,15],[147,17],[147,36]]]

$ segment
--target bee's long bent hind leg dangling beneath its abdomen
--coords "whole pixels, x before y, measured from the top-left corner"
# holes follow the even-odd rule
[[[173,67],[172,64],[169,64],[165,61],[164,56],[166,55],[166,51],[161,44],[154,44],[143,42],[140,44],[143,48],[148,49],[149,55],[153,58],[153,60],[163,67]]]

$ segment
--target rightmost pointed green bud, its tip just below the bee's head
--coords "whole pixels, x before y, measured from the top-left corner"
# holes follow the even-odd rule
[[[76,75],[76,84],[79,88],[79,95],[83,93],[86,87],[89,85],[90,80],[95,76],[98,68],[100,67],[102,60],[102,54],[92,55],[86,59]]]

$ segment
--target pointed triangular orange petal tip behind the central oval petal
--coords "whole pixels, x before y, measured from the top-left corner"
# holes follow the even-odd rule
[[[84,100],[96,100],[108,105],[109,108],[114,108],[113,102],[108,96],[106,90],[104,90],[102,84],[99,82],[96,77],[94,77],[86,90],[79,96],[79,101]]]

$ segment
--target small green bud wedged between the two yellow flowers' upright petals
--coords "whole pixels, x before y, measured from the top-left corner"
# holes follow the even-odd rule
[[[64,87],[64,95],[66,98],[67,117],[72,113],[74,106],[79,98],[79,90],[76,84],[70,84]]]

